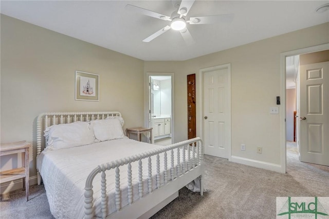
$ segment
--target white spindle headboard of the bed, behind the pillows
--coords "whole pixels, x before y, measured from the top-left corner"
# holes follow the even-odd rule
[[[66,113],[43,113],[36,120],[36,156],[39,156],[45,148],[45,129],[54,124],[66,124],[76,121],[91,121],[105,119],[107,117],[121,117],[120,112],[66,112]]]

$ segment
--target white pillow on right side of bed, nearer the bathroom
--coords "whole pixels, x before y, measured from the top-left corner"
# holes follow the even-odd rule
[[[119,118],[90,121],[90,129],[94,131],[95,138],[100,141],[125,137]]]

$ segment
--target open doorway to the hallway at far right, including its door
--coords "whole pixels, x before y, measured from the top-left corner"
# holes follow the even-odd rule
[[[282,157],[283,172],[286,172],[286,165],[288,165],[287,159],[291,158],[288,157],[288,151],[290,150],[291,152],[291,149],[295,150],[296,159],[298,161],[318,164],[319,162],[317,161],[320,159],[316,156],[322,156],[329,151],[328,145],[325,143],[328,139],[325,135],[321,135],[323,129],[327,129],[328,122],[320,122],[320,124],[319,122],[311,121],[314,116],[324,115],[324,108],[328,105],[325,102],[327,101],[328,92],[324,90],[327,88],[325,88],[325,85],[319,85],[324,83],[324,81],[322,82],[323,77],[321,72],[325,70],[324,68],[316,68],[313,66],[310,66],[308,69],[304,68],[304,66],[309,64],[313,65],[313,63],[329,61],[328,49],[329,44],[323,44],[281,54],[281,63],[286,63],[284,69],[281,68],[282,79],[285,80],[282,83],[285,86],[284,89],[283,86],[281,87],[281,92],[283,94],[282,96],[285,97],[283,104],[284,108],[286,108],[286,112],[281,115],[282,130],[284,130],[284,135],[282,135],[284,138],[281,139],[282,155],[284,156]],[[299,63],[298,68],[296,67],[297,63]],[[297,71],[296,75],[293,77],[291,77],[289,72],[292,70]],[[291,81],[296,84],[296,88],[291,87]],[[318,84],[314,84],[316,81]],[[304,90],[301,91],[302,89]],[[296,95],[294,95],[294,93]],[[296,97],[296,100],[294,100],[294,97]],[[303,111],[303,109],[306,109],[306,111]],[[327,119],[320,119],[319,121],[327,121]],[[303,133],[301,133],[302,130],[304,130]],[[312,133],[310,133],[310,131],[312,131]],[[302,154],[313,156],[316,162],[306,161],[305,158],[302,157]]]

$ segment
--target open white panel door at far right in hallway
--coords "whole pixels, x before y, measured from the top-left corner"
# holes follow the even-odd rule
[[[329,166],[329,62],[300,66],[300,158]]]

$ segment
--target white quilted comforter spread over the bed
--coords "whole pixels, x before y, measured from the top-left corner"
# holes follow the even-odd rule
[[[159,146],[138,142],[125,137],[81,147],[43,151],[37,159],[37,167],[44,181],[51,213],[56,218],[82,218],[84,216],[85,180],[93,169],[102,163],[143,153],[155,149],[155,147]],[[156,159],[152,158],[153,174],[156,173],[155,162]],[[147,164],[147,160],[143,160],[143,179],[147,179]],[[136,165],[132,165],[133,184],[137,184],[138,182],[138,168]],[[114,170],[106,172],[108,200],[111,200],[114,195],[114,174]],[[127,192],[124,189],[127,184],[126,178],[126,167],[120,168],[121,207],[127,204]],[[94,201],[95,206],[97,206],[96,215],[99,216],[100,174],[95,177],[93,186]],[[153,180],[152,186],[153,188],[156,187],[155,180]],[[143,187],[143,192],[146,194],[148,192],[147,183],[144,183]],[[133,194],[133,199],[136,200],[138,198],[138,188],[136,186],[133,188]],[[108,203],[107,214],[115,211],[115,203]]]

